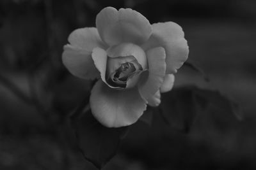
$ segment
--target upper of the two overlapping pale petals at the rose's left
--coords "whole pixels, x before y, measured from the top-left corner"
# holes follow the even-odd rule
[[[104,49],[106,49],[107,46],[101,41],[99,33],[95,27],[76,29],[68,36],[68,42],[72,46],[82,48],[89,52],[92,52],[93,48],[97,46]]]

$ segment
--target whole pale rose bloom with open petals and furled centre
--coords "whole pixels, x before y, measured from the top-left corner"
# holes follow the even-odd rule
[[[99,78],[90,106],[102,125],[134,124],[147,104],[161,103],[160,92],[172,89],[173,73],[188,58],[184,32],[173,22],[150,25],[137,11],[112,7],[100,11],[96,26],[70,34],[63,64],[79,78]]]

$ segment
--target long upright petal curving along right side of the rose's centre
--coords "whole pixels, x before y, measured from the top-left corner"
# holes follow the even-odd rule
[[[165,52],[163,47],[147,51],[148,71],[142,73],[139,85],[141,97],[148,101],[161,87],[166,71]],[[148,75],[147,75],[148,74]]]

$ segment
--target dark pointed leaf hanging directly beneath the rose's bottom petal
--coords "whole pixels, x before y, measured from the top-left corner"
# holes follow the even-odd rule
[[[98,169],[115,156],[120,140],[128,130],[128,127],[104,127],[93,117],[91,111],[74,120],[73,125],[80,151]]]

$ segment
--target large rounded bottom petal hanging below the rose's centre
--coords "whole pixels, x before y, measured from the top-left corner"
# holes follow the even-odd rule
[[[134,124],[147,108],[138,89],[115,90],[101,80],[92,89],[90,106],[93,116],[106,127]]]

